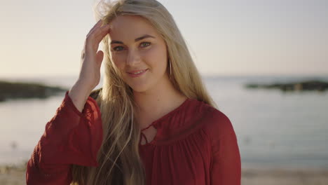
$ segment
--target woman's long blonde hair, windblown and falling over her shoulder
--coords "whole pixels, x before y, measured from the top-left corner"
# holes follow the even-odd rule
[[[182,34],[168,10],[156,0],[100,1],[95,15],[109,24],[119,15],[148,20],[162,36],[170,59],[170,81],[186,97],[216,107],[202,83]],[[140,129],[134,118],[132,88],[120,77],[111,60],[108,35],[104,37],[105,76],[96,100],[102,112],[104,139],[97,160],[99,167],[72,166],[72,184],[144,185],[145,171],[139,156]]]

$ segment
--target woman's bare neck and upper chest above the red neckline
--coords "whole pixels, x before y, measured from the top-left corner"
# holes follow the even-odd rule
[[[146,128],[153,121],[179,107],[187,99],[173,87],[169,80],[165,79],[145,92],[134,91],[133,95],[137,104],[135,117],[140,128]]]

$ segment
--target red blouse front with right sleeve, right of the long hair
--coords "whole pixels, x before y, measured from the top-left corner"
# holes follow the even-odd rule
[[[139,144],[147,185],[240,185],[237,138],[221,111],[188,99],[151,126],[157,130],[156,137]]]

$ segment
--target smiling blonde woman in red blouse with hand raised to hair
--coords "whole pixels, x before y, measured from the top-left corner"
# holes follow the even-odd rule
[[[170,13],[156,0],[98,7],[79,78],[34,149],[27,184],[240,184],[233,126]],[[103,59],[104,84],[92,92]]]

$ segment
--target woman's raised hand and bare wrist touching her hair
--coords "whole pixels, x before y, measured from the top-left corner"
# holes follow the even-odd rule
[[[109,25],[98,21],[86,36],[81,55],[81,69],[78,80],[69,90],[69,97],[75,107],[82,111],[91,91],[100,83],[100,67],[104,53],[98,51],[100,41],[109,33]]]

